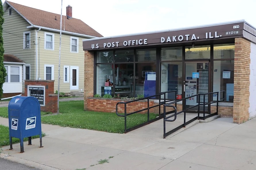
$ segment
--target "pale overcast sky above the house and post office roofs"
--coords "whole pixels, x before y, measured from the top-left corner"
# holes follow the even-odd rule
[[[61,0],[9,1],[61,14]],[[256,27],[255,0],[62,0],[62,15],[68,5],[73,18],[105,37],[241,19]]]

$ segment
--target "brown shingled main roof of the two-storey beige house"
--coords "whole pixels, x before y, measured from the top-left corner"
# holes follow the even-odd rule
[[[20,5],[17,3],[13,3],[10,1],[5,1],[8,5],[10,5],[14,10],[18,11],[21,15],[23,15],[24,19],[28,20],[30,24],[47,27],[52,29],[60,29],[60,15],[43,11],[40,9],[35,9],[31,7],[27,7],[24,5]],[[55,17],[57,20],[55,20]],[[103,37],[100,33],[95,31],[89,25],[76,18],[69,18],[65,15],[62,15],[62,30],[69,31],[73,33],[79,33],[84,35],[90,35],[94,37]],[[65,21],[64,21],[65,19]],[[65,23],[65,26],[64,26]]]

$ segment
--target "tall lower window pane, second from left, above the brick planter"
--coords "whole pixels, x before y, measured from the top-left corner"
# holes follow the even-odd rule
[[[115,94],[120,97],[133,97],[133,63],[115,64]]]

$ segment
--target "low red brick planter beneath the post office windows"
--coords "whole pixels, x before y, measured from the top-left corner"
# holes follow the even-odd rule
[[[116,112],[116,104],[118,102],[126,102],[131,100],[111,99],[111,98],[87,98],[87,110],[99,112]],[[149,107],[154,106],[154,100],[149,100]],[[128,103],[126,112],[135,112],[140,109],[147,108],[147,100]],[[154,112],[154,108],[149,110],[150,113]],[[124,113],[124,104],[118,104],[118,113]],[[147,110],[139,112],[147,113]]]

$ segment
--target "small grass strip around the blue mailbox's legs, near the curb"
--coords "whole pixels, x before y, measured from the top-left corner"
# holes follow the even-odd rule
[[[42,136],[45,136],[45,133],[42,133]],[[32,136],[31,139],[39,138],[39,135]],[[23,139],[24,142],[28,141],[28,138]],[[12,138],[12,144],[20,143],[20,139],[18,138]],[[9,140],[9,127],[3,126],[0,124],[0,148],[3,146],[10,145]]]

